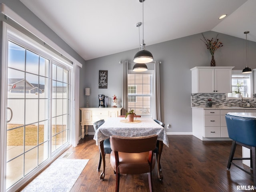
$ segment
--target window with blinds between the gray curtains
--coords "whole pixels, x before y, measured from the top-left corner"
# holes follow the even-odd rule
[[[152,74],[128,74],[128,111],[152,114]]]

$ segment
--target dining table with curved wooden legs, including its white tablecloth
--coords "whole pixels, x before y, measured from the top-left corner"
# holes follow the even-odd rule
[[[158,168],[158,179],[162,180],[162,168],[160,164],[161,154],[163,146],[169,147],[168,137],[164,127],[156,123],[152,118],[140,117],[134,119],[133,122],[128,122],[124,117],[110,117],[104,124],[102,124],[95,132],[94,140],[96,145],[100,147],[102,155],[103,170],[100,174],[100,179],[104,180],[105,177],[105,153],[104,153],[104,140],[110,138],[112,135],[125,136],[125,137],[140,137],[156,134],[157,137],[157,168]]]

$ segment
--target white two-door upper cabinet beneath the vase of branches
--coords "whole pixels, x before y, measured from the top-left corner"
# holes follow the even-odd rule
[[[192,93],[228,93],[232,86],[234,67],[194,67]]]

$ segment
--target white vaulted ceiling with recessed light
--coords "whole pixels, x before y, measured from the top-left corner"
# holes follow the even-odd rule
[[[139,0],[20,1],[84,60],[139,48]],[[250,31],[247,39],[256,42],[255,8],[256,0],[146,0],[145,44],[210,30],[244,39]]]

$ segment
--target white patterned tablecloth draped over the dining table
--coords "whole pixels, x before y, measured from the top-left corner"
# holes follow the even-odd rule
[[[112,135],[139,137],[157,134],[158,140],[162,141],[166,146],[169,146],[168,138],[165,129],[156,123],[152,118],[134,118],[135,122],[124,122],[125,118],[111,117],[106,120],[100,128],[97,129],[94,140],[96,145],[100,141],[110,138]]]

